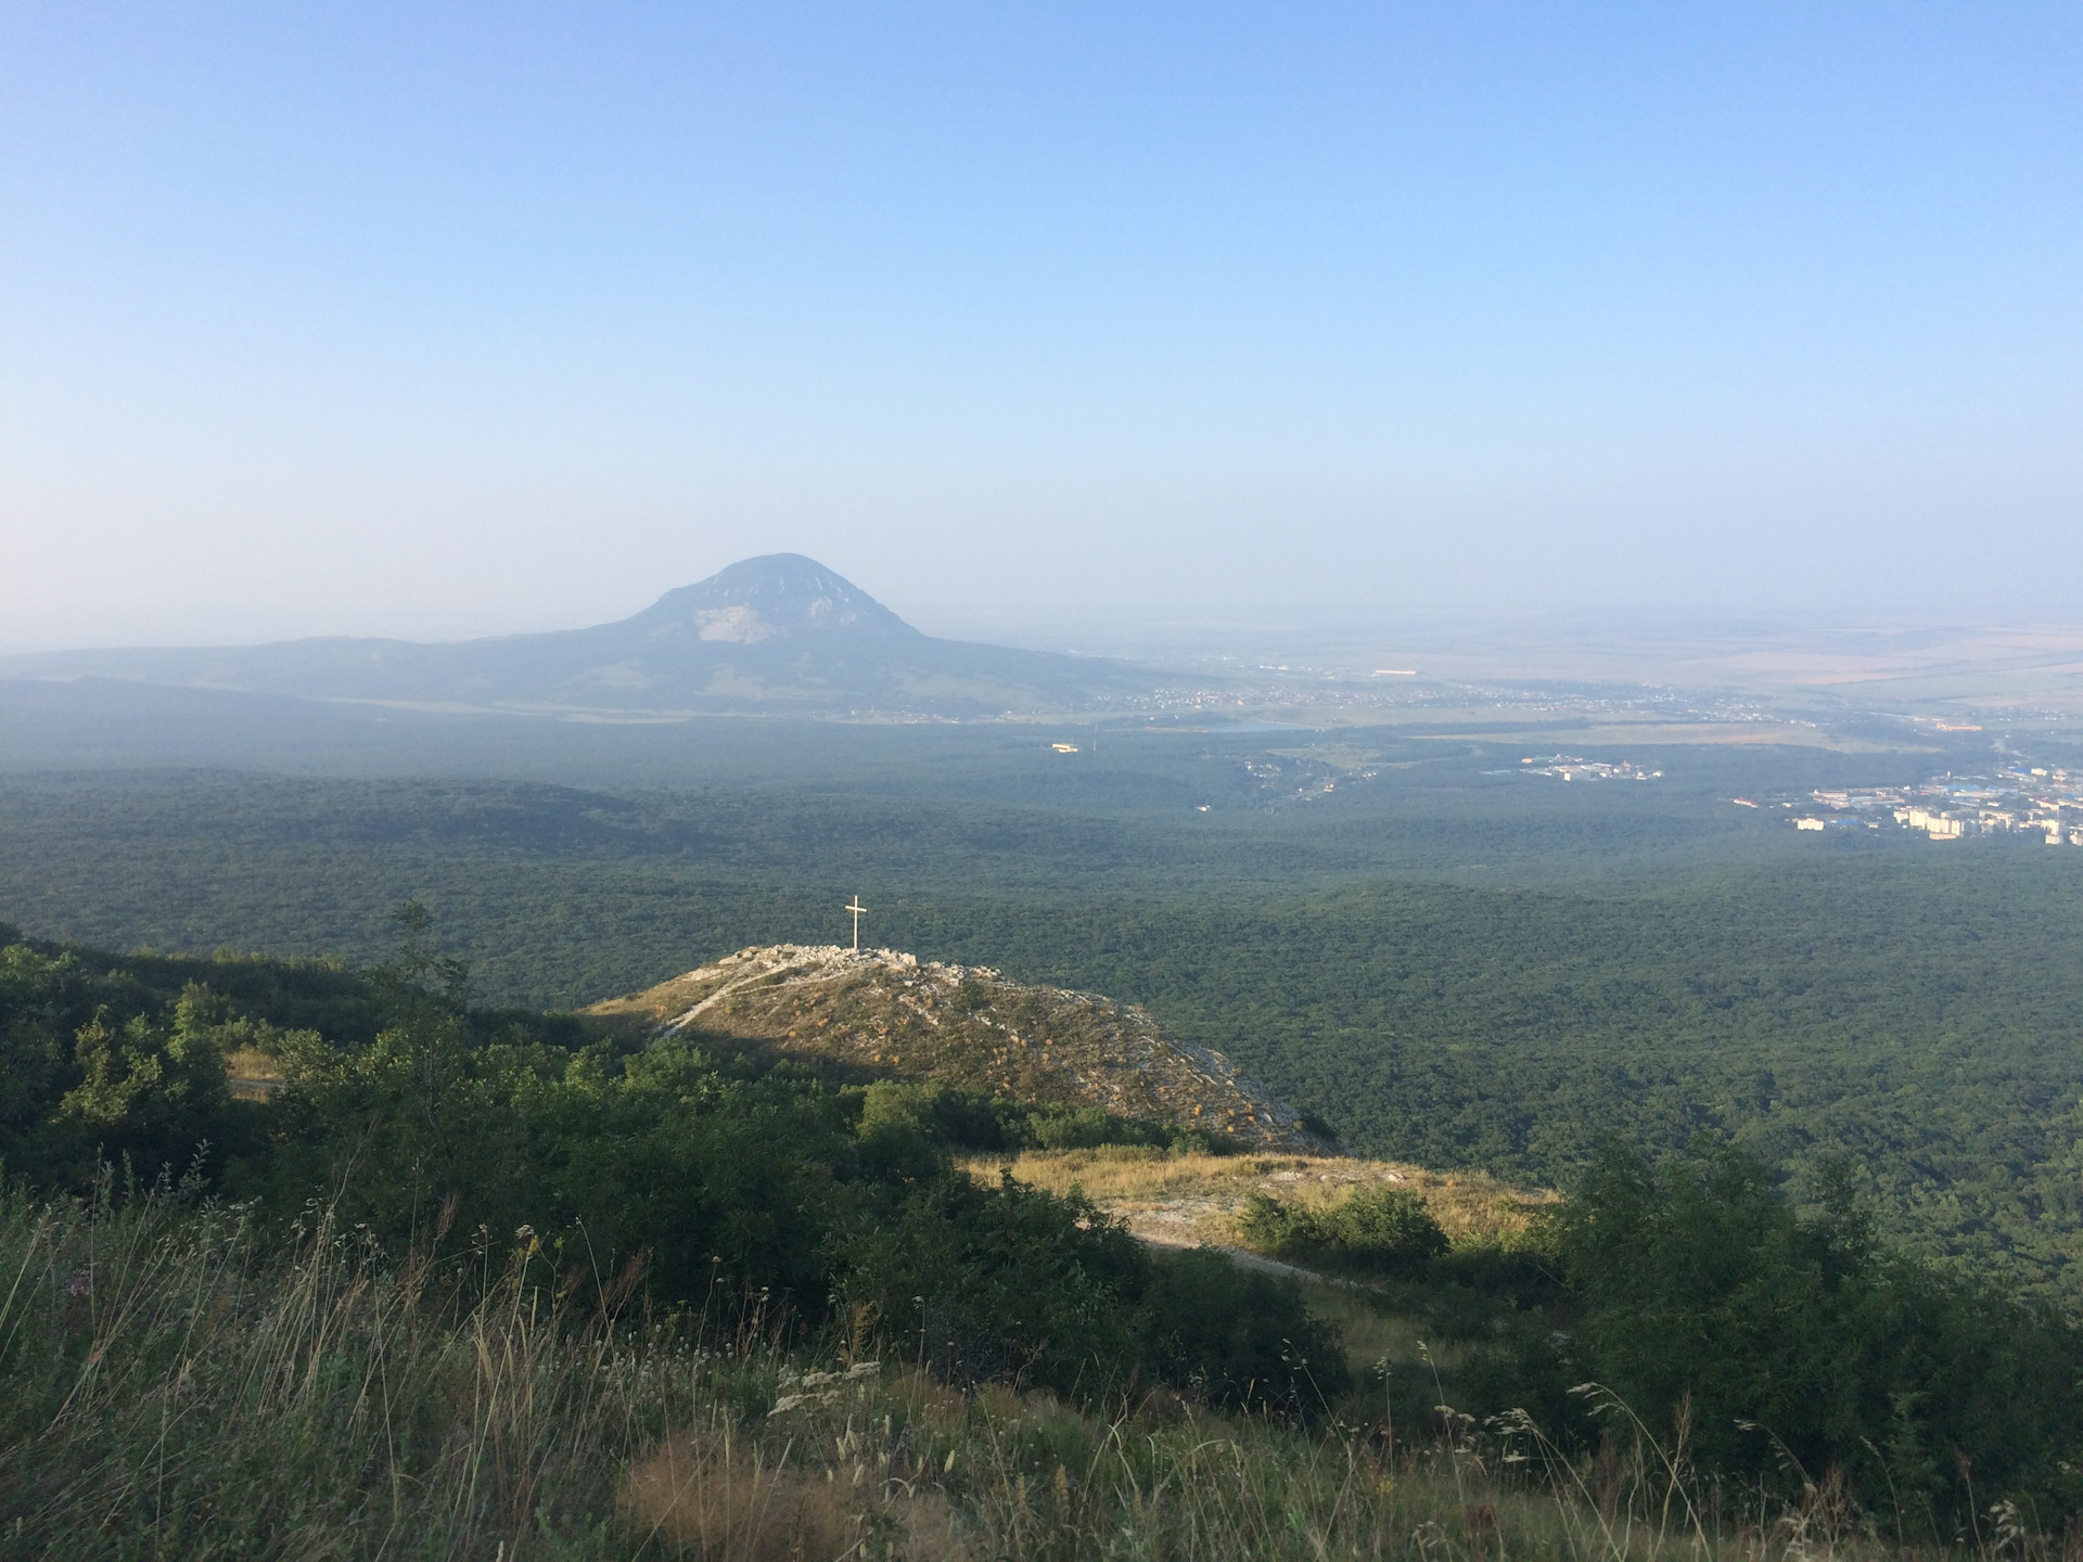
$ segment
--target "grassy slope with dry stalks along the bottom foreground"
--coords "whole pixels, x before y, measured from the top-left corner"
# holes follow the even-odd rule
[[[167,1193],[0,1198],[0,1556],[2056,1554],[2008,1512],[1956,1541],[1856,1520],[1827,1481],[1714,1485],[1618,1408],[1575,1462],[1510,1418],[1410,1443],[1164,1391],[1081,1414],[946,1387],[867,1318],[817,1370],[756,1298],[617,1316],[631,1273],[579,1310],[533,1256],[527,1231],[394,1262],[323,1214],[265,1241]]]

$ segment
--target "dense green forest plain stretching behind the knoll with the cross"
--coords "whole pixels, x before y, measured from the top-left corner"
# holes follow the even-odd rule
[[[675,789],[19,773],[0,908],[365,962],[417,896],[481,1002],[544,1008],[835,939],[858,891],[871,939],[1144,1002],[1354,1150],[1566,1183],[1608,1133],[1723,1133],[1802,1206],[1846,1160],[1893,1239],[2083,1300],[2083,862],[1727,804],[1931,756],[1668,750],[1566,789],[1502,744],[1050,735],[775,729]]]

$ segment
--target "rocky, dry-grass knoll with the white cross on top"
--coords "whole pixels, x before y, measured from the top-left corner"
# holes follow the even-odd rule
[[[842,1066],[1044,1106],[1183,1123],[1250,1150],[1333,1154],[1300,1114],[1141,1008],[896,950],[739,950],[583,1010],[656,1035],[702,1031]]]

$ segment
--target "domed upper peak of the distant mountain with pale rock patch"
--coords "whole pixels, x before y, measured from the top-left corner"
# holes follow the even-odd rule
[[[919,631],[837,571],[802,554],[762,554],[667,591],[629,621],[650,639],[758,646],[823,635],[919,639]]]

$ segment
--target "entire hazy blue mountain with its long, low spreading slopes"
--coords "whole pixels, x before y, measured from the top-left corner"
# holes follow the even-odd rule
[[[6,656],[0,677],[562,714],[998,714],[1146,683],[1121,662],[933,639],[802,554],[746,558],[592,629]]]

